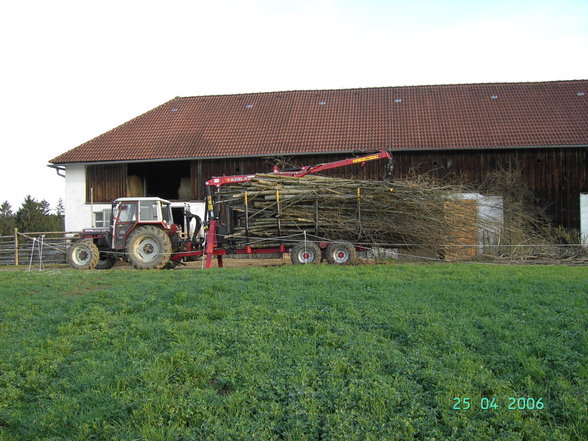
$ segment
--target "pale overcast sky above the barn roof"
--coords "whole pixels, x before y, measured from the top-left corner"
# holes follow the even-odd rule
[[[0,202],[175,96],[588,78],[588,1],[83,0],[0,6]]]

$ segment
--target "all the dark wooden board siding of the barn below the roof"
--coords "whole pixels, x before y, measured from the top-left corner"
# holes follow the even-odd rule
[[[542,148],[513,150],[393,152],[392,176],[403,178],[411,171],[437,178],[457,177],[477,184],[499,167],[516,165],[555,224],[580,226],[580,192],[588,192],[588,148]],[[278,159],[292,165],[309,165],[349,157],[347,154],[304,155],[273,158],[230,158],[191,161],[192,197],[204,199],[204,182],[214,176],[271,171]],[[333,169],[324,174],[359,179],[382,179],[387,161]],[[126,195],[125,164],[87,167],[86,199],[94,187],[94,202],[110,202]]]

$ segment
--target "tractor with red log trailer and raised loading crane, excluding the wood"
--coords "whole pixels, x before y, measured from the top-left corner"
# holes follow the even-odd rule
[[[391,159],[387,151],[327,162],[295,169],[278,170],[271,175],[302,178],[348,165]],[[204,222],[186,209],[182,219],[174,219],[172,204],[160,198],[119,198],[113,202],[110,227],[85,229],[67,251],[66,260],[78,269],[111,268],[118,259],[128,261],[136,269],[173,268],[186,261],[204,258],[206,268],[212,267],[216,256],[223,266],[229,254],[291,253],[295,264],[319,262],[323,254],[329,263],[343,264],[352,260],[355,247],[348,242],[301,241],[294,245],[235,248],[225,236],[230,223],[221,222],[220,203],[214,190],[224,185],[238,185],[255,179],[257,174],[213,177],[205,182],[206,208]],[[202,228],[201,228],[202,227]],[[279,238],[278,238],[279,239]]]

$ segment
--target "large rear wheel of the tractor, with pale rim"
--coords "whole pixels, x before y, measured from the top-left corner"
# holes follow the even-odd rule
[[[171,240],[153,225],[136,228],[127,238],[127,260],[136,269],[160,269],[171,255]]]

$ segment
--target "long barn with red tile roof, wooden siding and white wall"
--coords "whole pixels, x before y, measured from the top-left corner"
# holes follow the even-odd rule
[[[203,199],[213,176],[388,150],[335,173],[410,172],[472,185],[516,167],[554,224],[580,228],[588,192],[588,80],[176,97],[49,161],[65,175],[66,229],[105,223],[122,196]]]

